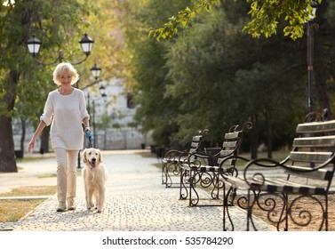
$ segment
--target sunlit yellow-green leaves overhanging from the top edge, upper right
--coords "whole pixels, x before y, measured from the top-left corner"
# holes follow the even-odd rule
[[[252,37],[270,37],[277,33],[278,23],[285,20],[283,28],[285,36],[290,36],[296,40],[304,34],[304,23],[310,19],[312,7],[309,0],[244,0],[250,4],[251,20],[243,27],[243,31]],[[320,4],[322,0],[317,0]],[[163,28],[150,28],[149,36],[166,39],[178,34],[179,27],[187,26],[188,22],[195,18],[203,10],[211,11],[212,6],[219,4],[219,0],[201,0],[199,4],[194,4],[192,8],[186,7],[179,11],[176,16],[171,16],[169,22],[164,23]],[[237,0],[235,0],[237,2]]]

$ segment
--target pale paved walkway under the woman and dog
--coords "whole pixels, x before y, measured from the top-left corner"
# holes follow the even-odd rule
[[[181,201],[179,189],[166,189],[161,184],[156,157],[144,157],[141,151],[103,151],[108,168],[107,205],[102,213],[89,211],[84,203],[81,173],[77,179],[76,211],[57,213],[56,196],[49,197],[36,210],[17,222],[0,223],[0,230],[14,231],[221,231],[222,207],[188,207]],[[46,156],[44,156],[46,157]],[[55,160],[45,158],[19,163],[20,173],[0,173],[0,189],[56,185],[56,178],[38,178],[54,174]],[[84,166],[84,165],[82,165]],[[231,208],[235,230],[245,229],[245,216]],[[259,221],[261,230],[274,227]]]

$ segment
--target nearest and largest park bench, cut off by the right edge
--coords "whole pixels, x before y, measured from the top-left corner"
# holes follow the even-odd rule
[[[234,229],[230,202],[246,210],[246,230],[257,230],[255,212],[265,212],[277,230],[328,230],[331,181],[335,170],[335,120],[298,124],[288,157],[281,162],[258,158],[242,175],[222,173],[224,229]],[[230,186],[230,187],[229,187]],[[230,192],[238,190],[235,200]],[[234,198],[233,197],[233,198]]]

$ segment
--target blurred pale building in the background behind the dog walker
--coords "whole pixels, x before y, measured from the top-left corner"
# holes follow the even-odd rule
[[[91,128],[95,143],[100,149],[142,149],[152,143],[150,134],[142,134],[134,125],[133,116],[136,106],[127,98],[124,84],[120,79],[113,78],[104,85],[106,98],[100,92],[90,93],[87,98],[91,115]],[[88,103],[90,102],[90,103]]]

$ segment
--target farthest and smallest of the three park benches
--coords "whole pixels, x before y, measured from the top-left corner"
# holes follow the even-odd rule
[[[190,153],[195,153],[201,149],[203,136],[208,133],[207,129],[198,131],[192,138],[189,149],[169,149],[162,158],[162,184],[166,188],[179,187],[180,185],[180,160],[184,160]]]

